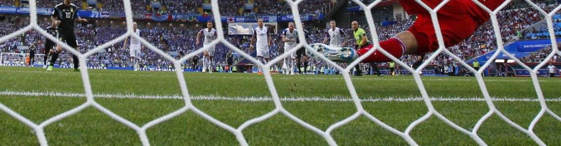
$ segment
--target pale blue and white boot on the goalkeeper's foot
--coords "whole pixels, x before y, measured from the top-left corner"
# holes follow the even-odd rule
[[[325,56],[325,58],[328,58],[333,62],[349,63],[358,58],[358,54],[353,48],[335,48],[321,43],[310,44],[310,46],[319,54]],[[316,59],[320,59],[319,56],[316,56],[310,50],[306,50],[306,55],[312,56]]]

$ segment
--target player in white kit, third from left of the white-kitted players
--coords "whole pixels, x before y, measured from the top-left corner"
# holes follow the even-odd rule
[[[272,45],[271,34],[267,27],[263,26],[263,19],[257,19],[257,27],[254,29],[253,36],[251,37],[251,43],[249,50],[253,50],[253,43],[257,42],[255,47],[257,48],[257,60],[263,63],[269,62],[269,45]],[[263,61],[262,61],[263,60]],[[259,68],[259,74],[261,74],[261,68]]]

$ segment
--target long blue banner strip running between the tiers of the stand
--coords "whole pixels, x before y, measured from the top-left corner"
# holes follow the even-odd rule
[[[14,6],[0,6],[0,13],[10,13],[10,14],[29,14],[29,8],[18,8]],[[37,8],[37,13],[39,15],[52,15],[52,8]],[[125,18],[125,12],[119,11],[86,11],[79,10],[78,15],[83,18]],[[133,18],[136,19],[146,19],[153,21],[189,21],[189,22],[206,22],[213,21],[212,15],[194,15],[185,13],[166,13],[166,14],[156,14],[156,13],[135,13]],[[294,17],[292,15],[281,15],[281,16],[222,16],[220,21],[226,23],[243,23],[243,22],[257,22],[257,19],[262,18],[264,22],[292,22]],[[323,14],[303,14],[300,15],[302,21],[312,21],[312,20],[323,20]]]

